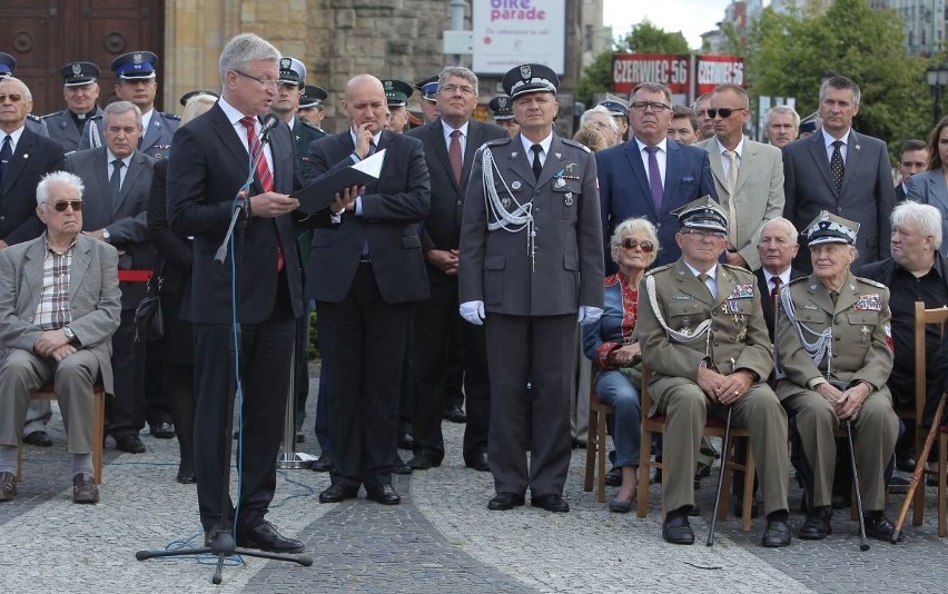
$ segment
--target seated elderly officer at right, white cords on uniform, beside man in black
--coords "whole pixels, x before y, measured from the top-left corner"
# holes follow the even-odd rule
[[[823,210],[807,229],[813,273],[784,285],[778,304],[777,395],[796,428],[806,539],[831,532],[833,432],[841,423],[852,426],[866,533],[888,541],[893,531],[885,515],[899,433],[886,387],[893,362],[889,289],[850,271],[858,230],[858,222]]]

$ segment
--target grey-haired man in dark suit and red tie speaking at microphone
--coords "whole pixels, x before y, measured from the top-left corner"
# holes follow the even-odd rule
[[[194,324],[196,389],[195,475],[206,542],[230,522],[238,546],[299,552],[303,544],[280,535],[264,519],[276,488],[276,457],[289,389],[295,319],[303,314],[303,280],[290,212],[299,201],[298,166],[289,128],[276,126],[260,140],[259,116],[270,111],[280,53],[246,33],[220,55],[224,87],[217,105],[179,128],[168,164],[168,217],[176,230],[194,236],[190,304],[181,317]],[[263,150],[263,156],[259,156]],[[259,159],[256,157],[259,156]],[[245,200],[235,258],[214,261],[251,162],[257,162]],[[237,311],[231,307],[236,274]],[[186,297],[187,299],[187,297]],[[234,397],[231,317],[240,324],[243,414],[239,517],[221,507],[230,427],[225,406]]]

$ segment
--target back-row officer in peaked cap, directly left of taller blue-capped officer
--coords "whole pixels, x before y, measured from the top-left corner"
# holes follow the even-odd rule
[[[101,71],[92,62],[72,62],[59,69],[62,75],[62,95],[66,109],[42,117],[49,137],[62,145],[66,152],[79,148],[82,128],[89,118],[101,116],[102,109],[96,105],[99,99],[97,79]]]

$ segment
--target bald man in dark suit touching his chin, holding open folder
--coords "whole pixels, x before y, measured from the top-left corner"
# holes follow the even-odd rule
[[[329,442],[335,468],[322,503],[354,498],[397,505],[392,488],[398,432],[398,379],[412,303],[428,297],[418,237],[428,214],[428,168],[422,141],[382,129],[387,109],[382,81],[358,75],[346,85],[345,132],[320,138],[304,157],[306,184],[377,150],[377,181],[345,209],[338,225],[316,229],[307,296],[316,299],[323,366],[328,374]]]

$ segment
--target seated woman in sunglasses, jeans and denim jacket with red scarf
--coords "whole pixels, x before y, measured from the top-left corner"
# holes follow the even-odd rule
[[[615,410],[612,438],[622,484],[609,509],[625,514],[632,509],[638,488],[641,425],[642,356],[632,330],[639,317],[639,281],[655,261],[658,231],[643,218],[626,219],[615,228],[609,245],[619,271],[605,277],[605,311],[583,327],[583,347],[596,370],[596,394]]]

